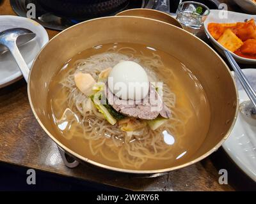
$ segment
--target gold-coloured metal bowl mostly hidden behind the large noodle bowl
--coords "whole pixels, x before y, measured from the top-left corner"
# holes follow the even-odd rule
[[[147,9],[147,8],[134,8],[130,10],[124,10],[120,13],[117,13],[116,16],[130,16],[130,17],[144,17],[151,18],[154,20],[160,20],[166,22],[171,25],[175,25],[177,27],[183,28],[178,20],[173,18],[168,13],[164,13],[162,11]]]

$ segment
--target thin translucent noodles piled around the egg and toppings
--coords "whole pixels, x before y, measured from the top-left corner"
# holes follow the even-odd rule
[[[126,133],[121,131],[117,124],[111,126],[94,106],[92,106],[92,110],[84,111],[85,104],[90,98],[79,92],[74,83],[74,75],[77,72],[90,73],[97,80],[100,71],[113,67],[120,61],[127,60],[140,62],[147,71],[150,80],[158,82],[159,79],[155,73],[157,69],[164,66],[161,57],[156,54],[148,57],[141,52],[141,55],[136,55],[136,58],[134,58],[134,54],[136,54],[136,50],[130,47],[122,47],[118,50],[109,48],[108,52],[103,54],[76,61],[73,68],[68,71],[60,82],[67,94],[67,100],[61,101],[61,104],[66,102],[69,110],[72,110],[81,119],[80,122],[72,122],[72,128],[68,133],[71,137],[83,135],[84,139],[88,141],[93,155],[100,154],[108,161],[121,163],[124,168],[140,169],[143,164],[147,163],[148,159],[168,160],[173,158],[172,147],[164,143],[162,131],[166,130],[172,135],[176,135],[179,132],[179,137],[184,136],[184,126],[190,117],[189,112],[184,112],[184,110],[179,110],[179,108],[175,107],[176,96],[164,84],[163,100],[165,105],[172,111],[172,117],[165,123],[164,127],[156,131],[146,127],[141,131],[143,135],[129,140]],[[169,72],[168,75],[172,77],[172,72]],[[65,112],[62,117],[65,117]],[[74,134],[74,132],[81,134]],[[113,155],[116,157],[113,158],[105,154],[104,151],[106,149],[115,152]]]

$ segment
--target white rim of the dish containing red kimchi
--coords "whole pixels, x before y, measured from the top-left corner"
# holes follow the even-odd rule
[[[209,16],[208,17],[210,17],[211,15],[212,15],[212,12],[216,12],[216,13],[220,13],[221,11],[223,11],[223,10],[211,10],[211,13],[209,14]],[[246,14],[246,13],[239,13],[239,12],[235,12],[235,11],[227,11],[228,13],[233,13],[233,14],[236,14],[236,13],[238,13],[239,15],[243,15],[244,17],[245,16],[250,16],[250,14]],[[215,13],[215,14],[216,14]],[[253,15],[251,15],[252,16],[252,18],[253,18]],[[205,34],[207,35],[207,37],[208,38],[210,38],[216,45],[218,45],[218,47],[220,47],[221,48],[221,50],[226,50],[226,48],[225,47],[223,47],[223,45],[221,45],[217,40],[215,40],[213,37],[212,37],[212,35],[211,35],[211,33],[209,33],[209,31],[208,31],[208,24],[210,24],[211,22],[207,22],[207,20],[205,20],[205,22],[204,22],[204,30],[205,30]],[[220,22],[212,22],[212,23],[218,23],[218,24],[220,24]],[[250,58],[246,58],[246,57],[241,57],[241,56],[239,56],[239,55],[237,55],[237,54],[235,54],[234,52],[230,52],[232,55],[233,55],[233,57],[236,57],[237,59],[239,59],[240,61],[246,61],[246,62],[254,62],[255,64],[256,64],[256,59],[250,59]]]

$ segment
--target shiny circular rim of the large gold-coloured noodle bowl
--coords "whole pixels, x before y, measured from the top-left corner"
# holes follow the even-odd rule
[[[28,77],[28,98],[29,98],[29,105],[31,106],[31,110],[33,112],[33,114],[35,115],[35,118],[38,122],[38,124],[40,124],[41,128],[44,129],[45,133],[47,133],[47,135],[56,143],[56,145],[58,145],[59,147],[61,147],[61,149],[67,151],[69,154],[71,154],[72,156],[76,157],[77,159],[79,159],[79,161],[84,161],[84,162],[87,162],[87,163],[90,163],[90,164],[93,164],[97,167],[100,167],[100,168],[104,168],[106,170],[111,170],[111,171],[118,171],[118,172],[121,172],[121,173],[132,173],[132,174],[140,174],[140,175],[143,175],[143,174],[156,174],[156,173],[165,173],[165,172],[168,172],[168,171],[173,171],[173,170],[178,170],[180,168],[184,168],[186,166],[190,166],[191,164],[195,164],[197,163],[198,161],[201,161],[202,159],[205,159],[205,157],[209,156],[210,154],[212,154],[213,152],[215,152],[216,150],[218,150],[222,143],[225,142],[225,140],[227,140],[228,136],[230,135],[232,129],[234,128],[234,125],[236,124],[236,120],[237,120],[237,114],[238,114],[238,111],[239,111],[239,98],[238,98],[238,91],[237,91],[237,86],[236,86],[236,82],[234,80],[234,77],[232,77],[232,73],[230,71],[230,69],[228,68],[227,64],[225,63],[225,61],[223,61],[223,59],[220,57],[220,55],[218,55],[218,53],[213,50],[209,45],[207,45],[207,43],[205,43],[203,40],[201,40],[200,38],[198,38],[198,40],[200,40],[202,43],[204,43],[205,46],[207,46],[208,48],[210,48],[212,50],[212,52],[214,52],[214,54],[216,54],[216,57],[219,57],[219,59],[223,62],[223,64],[225,65],[225,68],[227,69],[228,71],[228,74],[230,75],[230,77],[232,78],[232,82],[234,84],[234,87],[235,87],[235,90],[236,90],[236,96],[237,96],[237,99],[236,99],[236,113],[234,115],[234,119],[232,119],[232,124],[230,125],[230,128],[228,129],[227,131],[227,134],[220,140],[220,142],[218,142],[211,150],[209,150],[208,152],[205,152],[205,154],[203,154],[202,156],[200,157],[197,157],[196,159],[193,159],[192,161],[189,161],[187,163],[184,163],[184,164],[180,164],[179,166],[173,166],[173,167],[170,167],[170,168],[163,168],[163,169],[157,169],[157,170],[130,170],[130,169],[125,169],[125,168],[117,168],[117,167],[114,167],[114,166],[109,166],[109,165],[106,165],[106,164],[102,164],[102,163],[98,163],[96,161],[93,161],[91,159],[88,159],[86,157],[83,157],[81,156],[80,154],[77,154],[76,152],[74,152],[73,150],[69,149],[67,146],[63,145],[63,143],[61,143],[60,141],[58,141],[49,131],[47,128],[45,128],[44,124],[42,124],[41,120],[39,119],[37,113],[36,113],[36,110],[35,110],[35,107],[33,106],[33,102],[32,102],[32,99],[31,99],[31,94],[30,94],[30,86],[31,86],[31,73],[33,71],[33,69],[35,68],[35,62],[36,60],[38,59],[39,55],[41,54],[41,52],[43,52],[44,48],[49,44],[51,43],[52,40],[54,40],[55,38],[58,38],[59,35],[61,35],[62,33],[64,33],[66,30],[68,29],[72,29],[73,27],[77,26],[77,25],[81,25],[81,24],[86,24],[86,22],[91,22],[91,21],[97,21],[97,20],[100,20],[100,19],[104,19],[104,18],[143,18],[143,19],[147,19],[147,20],[151,20],[151,21],[155,21],[155,22],[158,22],[159,24],[166,24],[168,26],[172,26],[172,27],[175,27],[176,29],[180,29],[182,30],[183,32],[186,32],[188,33],[189,35],[197,38],[196,36],[194,36],[193,34],[189,33],[188,31],[185,31],[184,29],[181,29],[175,25],[170,25],[166,22],[162,22],[160,20],[154,20],[154,19],[150,19],[150,18],[144,18],[144,17],[129,17],[129,16],[111,16],[111,17],[100,17],[100,18],[94,18],[94,19],[91,19],[91,20],[87,20],[87,21],[84,21],[84,22],[81,22],[79,24],[76,24],[76,25],[72,25],[71,27],[68,27],[67,29],[65,29],[64,31],[61,31],[60,33],[56,34],[56,36],[54,36],[51,40],[49,40],[46,45],[42,48],[42,50],[40,50],[40,52],[38,53],[38,55],[36,55],[36,58],[35,58],[35,61],[33,62],[32,66],[31,66],[31,71],[29,72],[29,77]]]

